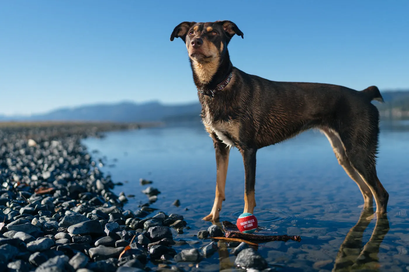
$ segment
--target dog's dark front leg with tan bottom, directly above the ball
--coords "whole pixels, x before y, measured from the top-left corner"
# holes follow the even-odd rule
[[[256,153],[255,148],[241,149],[245,171],[244,211],[252,214],[256,207],[254,185],[256,184]]]

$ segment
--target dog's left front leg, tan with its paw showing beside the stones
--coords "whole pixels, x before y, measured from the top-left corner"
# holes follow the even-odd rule
[[[208,216],[203,218],[207,221],[215,221],[219,218],[222,210],[222,202],[225,200],[225,186],[227,167],[229,166],[230,147],[227,147],[216,137],[213,138],[214,149],[216,150],[216,197],[214,198],[213,208]]]

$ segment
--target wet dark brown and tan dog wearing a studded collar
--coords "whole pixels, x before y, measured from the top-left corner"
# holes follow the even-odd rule
[[[386,213],[389,194],[376,174],[379,112],[377,87],[363,91],[323,83],[278,82],[249,75],[231,64],[227,46],[243,32],[231,21],[182,22],[170,40],[187,47],[202,105],[201,117],[216,151],[216,197],[203,220],[216,221],[225,200],[229,150],[237,147],[245,169],[244,211],[254,212],[256,152],[308,129],[319,129],[330,141],[338,162],[355,181],[364,208]]]

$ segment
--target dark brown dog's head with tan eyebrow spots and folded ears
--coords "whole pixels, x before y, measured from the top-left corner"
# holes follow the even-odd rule
[[[182,22],[173,29],[171,41],[182,38],[189,58],[195,62],[214,62],[226,51],[234,35],[243,38],[243,32],[231,21]]]

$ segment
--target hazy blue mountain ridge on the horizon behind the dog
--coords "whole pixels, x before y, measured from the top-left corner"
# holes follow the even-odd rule
[[[384,104],[374,102],[382,117],[409,118],[409,90],[384,91]],[[110,121],[110,122],[178,122],[200,120],[198,102],[164,105],[157,101],[148,103],[120,102],[60,108],[45,114],[31,116],[5,116],[2,121]]]

